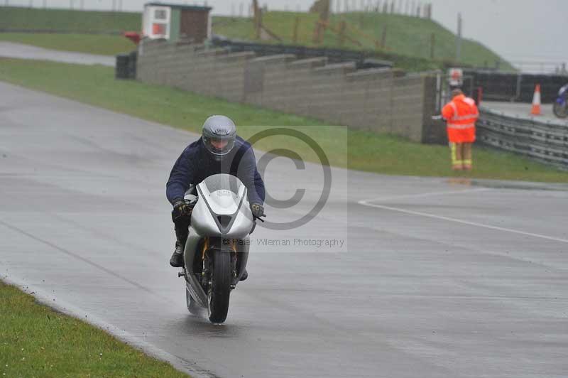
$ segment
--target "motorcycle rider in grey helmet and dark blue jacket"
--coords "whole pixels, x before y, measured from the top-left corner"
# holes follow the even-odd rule
[[[184,199],[190,185],[197,185],[210,175],[229,173],[246,186],[254,219],[264,216],[265,190],[251,144],[236,135],[229,117],[215,115],[205,120],[202,136],[187,146],[175,162],[166,184],[166,196],[173,205],[175,250],[170,265],[183,266],[183,250],[189,234],[192,203]],[[241,281],[246,279],[246,270]]]

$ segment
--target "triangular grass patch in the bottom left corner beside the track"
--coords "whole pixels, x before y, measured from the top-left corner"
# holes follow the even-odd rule
[[[0,377],[188,377],[0,281]]]

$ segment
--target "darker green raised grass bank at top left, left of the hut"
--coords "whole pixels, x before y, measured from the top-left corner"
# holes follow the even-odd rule
[[[140,31],[141,24],[141,13],[34,9],[13,6],[0,8],[0,30],[122,33],[123,31]]]

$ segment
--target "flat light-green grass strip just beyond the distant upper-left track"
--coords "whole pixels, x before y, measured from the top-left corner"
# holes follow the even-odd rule
[[[99,55],[116,55],[136,50],[136,45],[124,36],[95,34],[0,33],[0,41]]]

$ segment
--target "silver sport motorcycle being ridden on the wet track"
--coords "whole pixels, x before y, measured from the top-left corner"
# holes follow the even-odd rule
[[[249,234],[256,220],[249,208],[246,186],[234,175],[211,175],[185,198],[195,202],[190,234],[185,243],[187,309],[207,308],[212,323],[223,323],[229,296],[244,273],[249,259]]]

